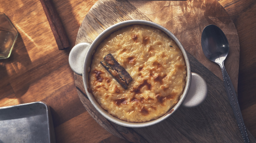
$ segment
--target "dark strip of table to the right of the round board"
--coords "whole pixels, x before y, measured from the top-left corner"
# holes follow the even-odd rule
[[[255,99],[255,80],[256,74],[256,3],[254,0],[241,1],[224,1],[220,0],[220,4],[228,11],[228,14],[234,21],[237,29],[240,43],[240,63],[238,78],[238,101],[242,110],[245,125],[248,130],[256,136],[256,127],[253,122],[256,121]]]

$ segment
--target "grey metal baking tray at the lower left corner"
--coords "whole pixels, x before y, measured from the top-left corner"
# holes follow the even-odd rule
[[[54,143],[49,107],[33,102],[0,107],[0,143]]]

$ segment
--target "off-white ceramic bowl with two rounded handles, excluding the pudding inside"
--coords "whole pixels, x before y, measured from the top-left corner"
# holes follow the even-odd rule
[[[113,32],[117,31],[118,29],[121,29],[121,28],[129,26],[129,25],[133,25],[133,24],[142,24],[142,25],[148,25],[151,27],[155,27],[155,28],[163,31],[170,38],[172,38],[177,43],[177,45],[180,47],[181,52],[185,58],[186,68],[187,68],[186,85],[184,87],[183,94],[181,95],[178,103],[174,107],[172,107],[169,110],[169,112],[166,113],[165,115],[163,115],[162,117],[160,117],[158,119],[151,120],[151,121],[142,122],[142,123],[127,122],[127,121],[120,120],[120,119],[110,115],[106,110],[104,110],[98,104],[98,102],[94,98],[93,94],[88,91],[88,89],[90,88],[90,87],[88,87],[88,85],[89,85],[88,84],[88,81],[89,81],[89,79],[88,79],[89,72],[88,71],[90,71],[92,56],[95,53],[97,46]],[[101,115],[103,115],[106,119],[108,119],[114,123],[117,123],[119,125],[122,125],[122,126],[146,127],[146,126],[156,124],[156,123],[168,118],[169,116],[171,116],[176,110],[178,110],[178,108],[181,106],[181,104],[183,104],[186,107],[197,106],[204,101],[204,99],[206,98],[206,95],[207,95],[206,82],[200,75],[198,75],[196,73],[191,73],[189,59],[188,59],[186,51],[183,48],[181,42],[168,29],[164,28],[163,26],[161,26],[159,24],[149,22],[149,21],[128,20],[128,21],[123,21],[123,22],[120,22],[120,23],[110,26],[109,28],[104,30],[102,33],[100,33],[92,43],[84,42],[84,43],[79,43],[79,44],[75,45],[73,47],[73,49],[70,51],[69,64],[70,64],[71,69],[75,73],[83,76],[83,83],[84,83],[86,95],[88,96],[88,99],[94,105],[96,110]]]

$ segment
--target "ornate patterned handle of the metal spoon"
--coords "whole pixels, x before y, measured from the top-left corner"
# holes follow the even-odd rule
[[[246,132],[245,123],[244,123],[242,113],[241,113],[241,110],[240,110],[240,107],[238,104],[238,99],[237,99],[235,89],[234,89],[233,84],[227,74],[225,67],[224,67],[224,62],[220,66],[221,66],[221,71],[222,71],[222,75],[223,75],[223,80],[224,80],[224,85],[226,88],[227,96],[228,96],[229,102],[231,104],[231,107],[233,109],[233,112],[235,114],[235,118],[238,123],[238,127],[242,133],[245,143],[249,143],[249,138],[248,138],[248,135]]]

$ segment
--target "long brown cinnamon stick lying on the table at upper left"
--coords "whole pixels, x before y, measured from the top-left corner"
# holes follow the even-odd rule
[[[68,48],[70,46],[69,41],[61,20],[53,6],[53,2],[51,0],[40,0],[40,2],[43,6],[59,50]]]

